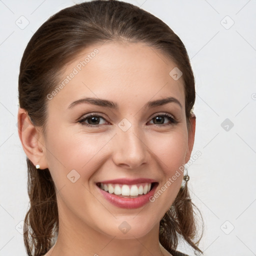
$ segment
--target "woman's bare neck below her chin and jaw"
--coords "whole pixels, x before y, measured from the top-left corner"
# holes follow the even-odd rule
[[[159,224],[143,236],[136,236],[136,233],[131,232],[129,234],[128,231],[124,238],[118,235],[110,236],[96,229],[73,216],[71,212],[68,218],[59,216],[57,241],[45,256],[170,255],[159,243]]]

